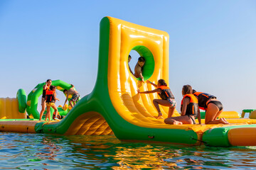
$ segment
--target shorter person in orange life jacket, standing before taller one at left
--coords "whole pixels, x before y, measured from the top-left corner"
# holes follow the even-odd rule
[[[55,106],[55,101],[56,100],[60,101],[60,99],[56,97],[55,90],[56,90],[55,86],[50,86],[50,90],[46,91],[46,107],[47,107],[46,120],[47,118],[50,120],[50,107],[54,109],[55,115],[56,116],[58,115],[58,108],[57,106]]]

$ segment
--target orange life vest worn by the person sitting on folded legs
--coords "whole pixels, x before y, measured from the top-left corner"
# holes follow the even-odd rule
[[[190,98],[190,103],[188,103],[185,115],[193,115],[196,117],[198,115],[198,99],[196,98],[196,96],[193,96],[193,94],[186,94],[183,96],[183,99],[181,101],[181,111],[183,107],[183,100],[186,97]]]

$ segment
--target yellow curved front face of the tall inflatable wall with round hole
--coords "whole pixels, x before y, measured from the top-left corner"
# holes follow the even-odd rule
[[[155,89],[151,84],[143,84],[129,72],[128,55],[133,47],[143,45],[154,56],[154,73],[149,78],[157,84],[164,79],[169,85],[169,35],[161,30],[138,26],[134,23],[110,18],[110,47],[108,61],[108,88],[110,98],[117,113],[129,123],[148,128],[166,126],[164,120],[156,120],[158,115],[152,103],[157,94],[137,94],[137,89],[147,91]],[[146,81],[145,81],[146,82]],[[161,107],[164,117],[167,107]],[[175,112],[175,115],[179,115]],[[171,127],[174,128],[174,127]]]

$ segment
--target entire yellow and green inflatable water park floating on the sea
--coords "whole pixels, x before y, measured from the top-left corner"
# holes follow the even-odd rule
[[[139,26],[117,18],[105,17],[100,22],[100,49],[95,87],[73,107],[59,106],[62,120],[39,120],[38,98],[43,85],[38,84],[26,95],[18,89],[16,98],[0,98],[0,131],[46,133],[52,135],[115,135],[127,142],[164,142],[175,145],[233,147],[256,145],[256,111],[224,111],[228,125],[167,125],[154,104],[157,94],[139,95],[154,89],[129,72],[131,50],[144,56],[144,81],[158,79],[169,84],[169,35],[162,30]],[[58,91],[70,89],[61,80],[52,81]],[[70,99],[70,97],[68,96]],[[39,102],[39,105],[41,101]],[[164,118],[168,108],[161,107]],[[53,111],[50,111],[53,114]],[[249,118],[244,118],[249,113]],[[27,118],[29,115],[30,118]],[[174,116],[180,113],[175,111]],[[201,116],[203,118],[203,115]],[[202,120],[204,123],[204,120]]]

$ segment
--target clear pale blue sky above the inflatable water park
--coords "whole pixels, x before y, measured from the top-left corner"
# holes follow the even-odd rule
[[[1,0],[0,97],[28,94],[46,79],[89,94],[104,16],[169,33],[169,86],[178,103],[191,84],[217,96],[225,111],[256,108],[256,1],[246,0]]]

